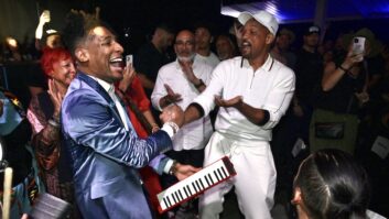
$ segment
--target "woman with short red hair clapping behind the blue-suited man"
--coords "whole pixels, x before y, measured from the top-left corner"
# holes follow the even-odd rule
[[[41,65],[48,77],[48,90],[33,97],[30,102],[28,119],[33,128],[32,146],[47,193],[74,205],[72,173],[67,166],[69,160],[62,149],[60,112],[76,70],[65,48],[46,47]],[[78,218],[77,215],[71,217]]]

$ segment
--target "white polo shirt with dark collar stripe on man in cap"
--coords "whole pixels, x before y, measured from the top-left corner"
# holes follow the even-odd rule
[[[271,129],[285,113],[292,99],[294,84],[293,70],[270,55],[256,72],[247,59],[241,63],[241,57],[235,57],[221,62],[214,69],[209,85],[194,102],[208,114],[215,107],[215,95],[226,100],[242,96],[245,103],[268,110],[269,121],[264,125],[253,124],[236,108],[220,108],[216,131],[250,141],[270,141]]]

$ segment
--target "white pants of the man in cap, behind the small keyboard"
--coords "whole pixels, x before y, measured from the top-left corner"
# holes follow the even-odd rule
[[[237,175],[201,196],[201,218],[219,218],[224,195],[233,186],[246,219],[271,218],[277,173],[269,142],[228,139],[215,132],[205,147],[204,166],[226,155],[233,162]]]

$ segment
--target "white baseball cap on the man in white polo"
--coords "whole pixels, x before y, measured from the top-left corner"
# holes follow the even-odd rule
[[[273,35],[277,34],[278,22],[277,22],[277,19],[273,14],[271,14],[267,11],[258,11],[255,14],[252,14],[250,12],[241,12],[238,17],[239,22],[244,25],[250,19],[255,19],[256,21],[258,21],[260,24],[266,26],[270,31],[270,33],[272,33]]]

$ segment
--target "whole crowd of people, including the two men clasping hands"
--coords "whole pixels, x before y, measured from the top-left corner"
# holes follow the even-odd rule
[[[45,78],[28,80],[28,102],[0,90],[11,218],[43,193],[75,219],[273,218],[274,202],[289,218],[389,216],[389,48],[369,29],[334,43],[311,25],[293,50],[273,14],[242,12],[218,35],[160,24],[126,63],[99,9],[72,10],[61,34],[47,22],[36,53],[7,39],[0,58],[39,56]],[[159,193],[225,156],[236,176],[159,213]]]

